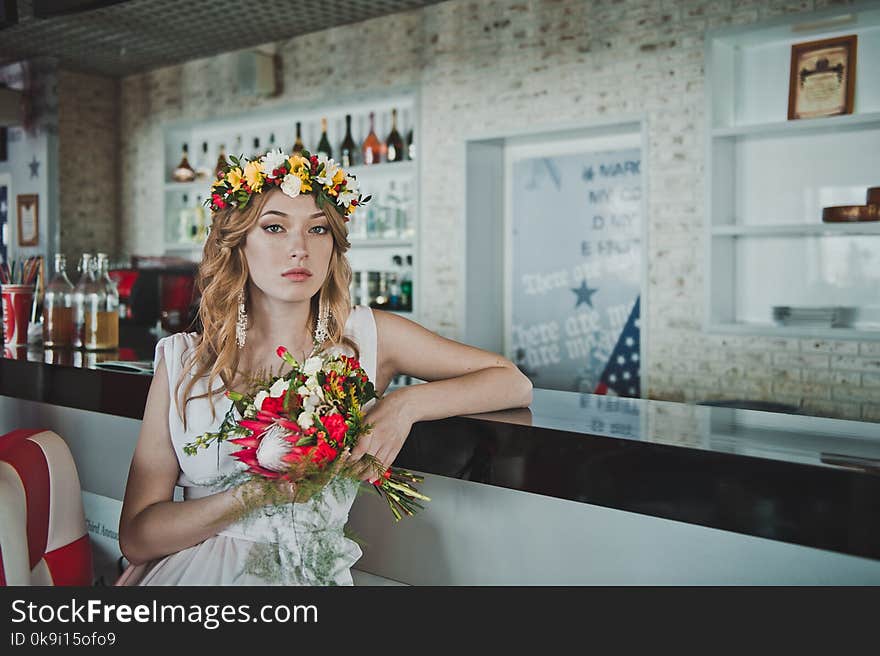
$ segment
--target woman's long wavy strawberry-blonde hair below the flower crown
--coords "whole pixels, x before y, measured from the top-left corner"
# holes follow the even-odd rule
[[[181,371],[180,379],[175,387],[175,404],[178,414],[186,429],[186,404],[194,399],[208,398],[211,406],[212,420],[216,419],[214,397],[229,389],[235,379],[239,365],[239,349],[235,341],[235,323],[237,320],[238,293],[245,290],[245,307],[248,305],[247,282],[249,270],[244,255],[244,241],[248,232],[256,225],[266,200],[277,190],[258,194],[244,209],[227,208],[211,215],[211,230],[205,243],[202,261],[196,274],[196,287],[201,294],[199,303],[199,320],[202,332],[197,347],[190,352],[190,357]],[[318,317],[319,296],[330,309],[330,321],[327,332],[330,337],[322,344],[323,348],[334,345],[347,346],[360,357],[357,343],[343,335],[345,324],[351,313],[351,266],[345,253],[351,248],[348,241],[348,230],[342,215],[335,207],[325,203],[322,208],[330,224],[333,235],[333,252],[330,255],[330,266],[327,278],[321,289],[312,297],[309,308],[309,325],[314,326]],[[230,310],[230,308],[232,308]],[[183,408],[180,405],[180,387],[191,373],[184,387]],[[190,396],[193,386],[200,378],[208,376],[208,391]],[[215,389],[217,380],[222,385]]]

